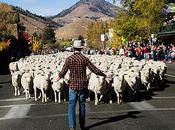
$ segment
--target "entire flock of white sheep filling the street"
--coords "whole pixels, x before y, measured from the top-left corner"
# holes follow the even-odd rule
[[[35,101],[41,97],[42,102],[47,102],[48,91],[54,94],[55,102],[61,102],[61,93],[64,93],[63,99],[65,100],[69,72],[59,81],[56,81],[55,78],[61,71],[65,59],[71,54],[72,52],[59,52],[49,55],[32,55],[11,62],[9,69],[15,96],[20,95],[22,86],[26,99],[31,97],[31,90],[34,90]],[[166,64],[161,61],[144,59],[138,61],[135,58],[116,55],[86,55],[86,57],[104,73],[111,75],[111,79],[106,79],[92,73],[87,68],[88,90],[93,92],[95,105],[103,97],[108,97],[109,102],[112,103],[112,93],[116,94],[117,103],[120,104],[124,101],[126,92],[127,96],[132,98],[141,87],[145,91],[150,91],[151,87],[157,87],[158,83],[163,81],[167,69]],[[38,90],[40,90],[40,96],[37,93]],[[89,99],[90,97],[87,98]]]

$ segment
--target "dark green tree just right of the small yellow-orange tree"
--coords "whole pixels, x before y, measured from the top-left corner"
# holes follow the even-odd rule
[[[46,27],[43,30],[42,43],[43,44],[55,44],[56,38],[54,30],[50,27]]]

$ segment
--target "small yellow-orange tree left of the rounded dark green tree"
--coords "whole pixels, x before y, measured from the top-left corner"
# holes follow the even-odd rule
[[[41,41],[37,40],[36,37],[32,38],[32,51],[39,52],[42,48]]]

